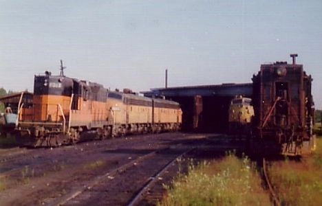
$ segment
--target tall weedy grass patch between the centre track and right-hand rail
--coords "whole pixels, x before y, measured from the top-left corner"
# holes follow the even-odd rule
[[[188,175],[164,186],[167,196],[158,205],[271,205],[256,171],[248,158],[233,154],[191,165]]]

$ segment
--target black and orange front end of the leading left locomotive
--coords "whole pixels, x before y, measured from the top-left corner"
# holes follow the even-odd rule
[[[73,80],[65,76],[34,76],[33,104],[29,108],[20,106],[16,130],[21,145],[47,146],[62,144],[65,139],[58,135],[67,132],[72,101]]]

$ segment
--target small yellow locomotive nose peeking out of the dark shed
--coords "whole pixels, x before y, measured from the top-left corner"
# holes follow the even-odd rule
[[[230,102],[228,130],[231,135],[248,135],[251,121],[254,116],[254,108],[250,104],[250,98],[237,95]]]

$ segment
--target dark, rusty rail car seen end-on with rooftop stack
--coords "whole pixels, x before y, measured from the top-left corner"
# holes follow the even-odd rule
[[[312,127],[314,102],[312,78],[290,55],[292,64],[275,62],[261,65],[253,76],[253,142],[264,151],[283,155],[303,155],[314,148]]]

